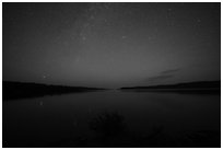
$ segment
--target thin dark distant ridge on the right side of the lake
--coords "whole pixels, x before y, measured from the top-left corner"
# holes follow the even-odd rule
[[[120,88],[121,90],[128,89],[221,89],[221,81],[197,81],[177,84],[165,84],[165,85],[150,85],[150,86],[130,86]]]

